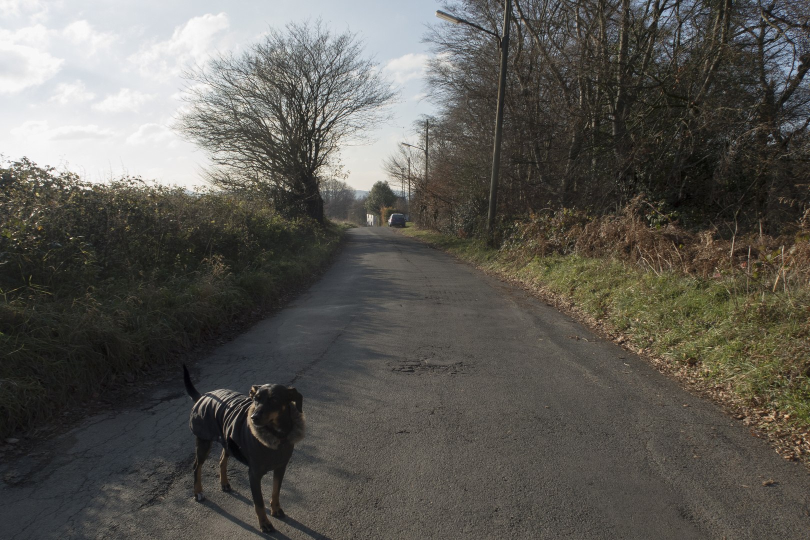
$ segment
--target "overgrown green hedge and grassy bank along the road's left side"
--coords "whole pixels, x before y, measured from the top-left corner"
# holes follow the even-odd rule
[[[0,438],[273,304],[347,228],[26,161],[0,173]]]

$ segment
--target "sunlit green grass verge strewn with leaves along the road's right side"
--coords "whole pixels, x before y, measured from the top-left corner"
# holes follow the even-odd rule
[[[579,315],[756,427],[782,457],[810,463],[807,296],[746,293],[744,278],[729,274],[706,279],[576,254],[527,256],[417,227],[403,234]]]

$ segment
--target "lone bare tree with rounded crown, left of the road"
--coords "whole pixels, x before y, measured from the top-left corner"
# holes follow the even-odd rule
[[[185,73],[187,107],[175,129],[205,149],[211,180],[258,190],[279,211],[322,222],[322,178],[341,145],[385,121],[396,92],[362,41],[321,21],[271,28],[245,53]]]

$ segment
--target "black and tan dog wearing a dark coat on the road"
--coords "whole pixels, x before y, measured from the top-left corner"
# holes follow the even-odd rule
[[[200,394],[191,384],[189,370],[183,366],[185,391],[194,400],[189,425],[197,437],[194,457],[194,500],[203,501],[201,472],[203,461],[214,441],[222,444],[220,486],[231,491],[228,483],[228,457],[248,466],[250,492],[258,524],[264,533],[275,528],[267,517],[262,497],[262,477],[273,471],[271,516],[284,517],[279,505],[279,491],[292,447],[305,435],[303,398],[294,388],[282,385],[254,385],[249,396],[233,390],[214,390]],[[294,406],[293,406],[294,403]]]

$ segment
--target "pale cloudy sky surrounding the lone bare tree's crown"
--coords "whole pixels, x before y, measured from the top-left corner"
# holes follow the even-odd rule
[[[169,129],[181,106],[181,70],[238,51],[270,27],[321,18],[364,39],[367,55],[399,89],[394,119],[374,142],[342,152],[347,182],[386,180],[382,160],[417,142],[424,100],[427,24],[434,0],[0,0],[0,155],[67,168],[87,181],[128,174],[202,185],[205,153]]]

